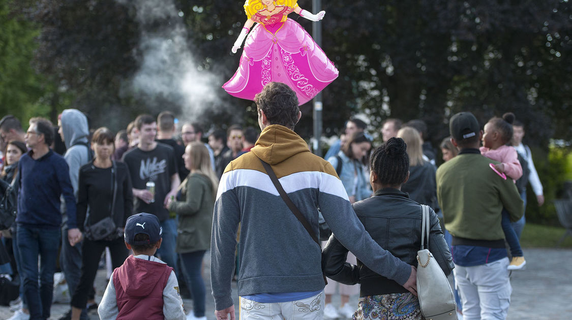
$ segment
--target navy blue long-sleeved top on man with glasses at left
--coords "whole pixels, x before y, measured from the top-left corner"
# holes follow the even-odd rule
[[[20,187],[16,222],[29,227],[59,228],[62,223],[59,197],[63,195],[67,226],[76,228],[76,197],[66,161],[52,150],[34,160],[32,152],[23,154],[18,162]]]

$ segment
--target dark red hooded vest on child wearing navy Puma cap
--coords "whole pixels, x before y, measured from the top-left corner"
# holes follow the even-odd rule
[[[163,289],[173,270],[165,263],[130,255],[113,272],[117,297],[117,320],[164,320]]]

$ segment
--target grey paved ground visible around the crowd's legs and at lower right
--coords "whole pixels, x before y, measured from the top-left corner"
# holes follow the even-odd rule
[[[525,249],[527,266],[525,270],[515,271],[511,277],[513,295],[509,309],[509,320],[526,319],[570,319],[572,314],[572,250]],[[208,254],[206,256],[208,258]],[[208,261],[208,259],[206,259]],[[208,263],[206,263],[208,266]],[[208,279],[208,267],[205,267],[205,279]],[[206,281],[206,316],[213,315],[214,301],[210,295],[210,282]],[[100,270],[96,279],[97,299],[105,290],[105,272]],[[233,296],[237,306],[236,282],[233,282]],[[357,297],[352,297],[357,304]],[[334,303],[339,299],[334,299]],[[192,308],[192,301],[185,300],[185,308]],[[67,305],[55,304],[51,307],[51,318],[58,319],[68,309]],[[237,313],[238,315],[238,313]],[[8,307],[0,307],[0,319],[11,316]],[[97,313],[90,313],[92,320],[98,319]],[[237,317],[238,319],[238,317]]]

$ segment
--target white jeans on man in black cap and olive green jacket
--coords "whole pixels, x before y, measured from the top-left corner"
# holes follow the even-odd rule
[[[453,274],[464,320],[506,319],[513,292],[507,266],[509,258],[472,267],[455,265]]]

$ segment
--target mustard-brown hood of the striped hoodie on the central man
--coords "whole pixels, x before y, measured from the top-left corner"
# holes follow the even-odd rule
[[[274,147],[274,146],[279,147]],[[295,154],[310,152],[308,144],[294,131],[281,125],[265,127],[251,149],[252,153],[270,165],[276,165]]]

